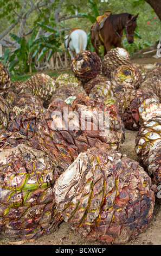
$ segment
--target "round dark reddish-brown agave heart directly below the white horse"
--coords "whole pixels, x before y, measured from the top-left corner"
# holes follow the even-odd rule
[[[71,68],[76,78],[88,82],[101,73],[101,59],[95,52],[82,51],[73,57]]]

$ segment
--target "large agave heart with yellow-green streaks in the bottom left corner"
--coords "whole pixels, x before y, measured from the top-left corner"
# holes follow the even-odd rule
[[[46,154],[23,144],[0,153],[0,230],[36,238],[62,222],[53,186],[59,170]]]

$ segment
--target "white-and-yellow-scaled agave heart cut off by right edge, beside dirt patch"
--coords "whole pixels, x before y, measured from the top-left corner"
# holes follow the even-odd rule
[[[144,166],[148,167],[149,151],[157,143],[161,143],[161,116],[144,122],[136,136],[135,150]]]

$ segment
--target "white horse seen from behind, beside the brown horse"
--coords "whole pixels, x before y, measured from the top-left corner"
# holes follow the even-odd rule
[[[82,29],[75,29],[69,35],[65,36],[65,46],[71,58],[73,58],[76,53],[85,51],[87,47],[86,32]]]

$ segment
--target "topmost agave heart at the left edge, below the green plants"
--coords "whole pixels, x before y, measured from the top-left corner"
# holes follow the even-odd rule
[[[0,94],[3,96],[10,88],[10,75],[5,66],[0,62]]]

